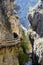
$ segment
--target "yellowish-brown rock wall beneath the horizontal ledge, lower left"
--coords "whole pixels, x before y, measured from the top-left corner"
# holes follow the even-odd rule
[[[19,65],[15,47],[0,49],[0,65]]]

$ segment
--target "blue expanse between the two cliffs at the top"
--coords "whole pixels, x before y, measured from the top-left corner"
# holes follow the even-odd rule
[[[17,11],[20,17],[20,23],[23,24],[27,29],[29,28],[29,21],[27,20],[27,12],[29,7],[33,7],[38,0],[16,0],[16,4],[20,6],[20,10]]]

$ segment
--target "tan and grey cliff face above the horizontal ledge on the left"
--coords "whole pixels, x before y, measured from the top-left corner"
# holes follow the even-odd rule
[[[14,32],[20,36],[19,17],[14,10],[14,1],[2,0],[0,4],[0,39],[6,39],[8,33],[13,37]]]

